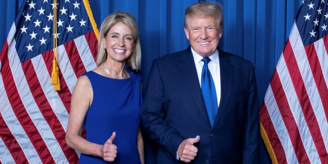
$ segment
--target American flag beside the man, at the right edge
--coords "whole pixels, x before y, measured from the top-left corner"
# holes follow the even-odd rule
[[[327,33],[327,1],[302,1],[260,109],[273,163],[328,163]]]

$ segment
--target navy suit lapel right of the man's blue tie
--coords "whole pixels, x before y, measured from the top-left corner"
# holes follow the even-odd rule
[[[220,60],[220,80],[221,80],[221,99],[215,117],[213,129],[217,126],[221,120],[224,110],[226,110],[227,103],[231,94],[231,84],[234,76],[234,67],[229,64],[230,59],[227,54],[219,50]]]

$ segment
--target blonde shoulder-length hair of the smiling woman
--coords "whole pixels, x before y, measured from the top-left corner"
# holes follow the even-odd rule
[[[130,55],[130,57],[127,59],[126,65],[130,66],[132,70],[138,71],[140,70],[141,65],[141,48],[139,41],[138,25],[136,23],[135,18],[131,14],[122,11],[117,11],[108,15],[100,26],[98,38],[97,66],[103,64],[107,59],[107,52],[103,48],[103,41],[101,37],[106,37],[109,30],[119,22],[127,25],[130,28],[132,32],[132,37],[135,40],[134,49],[132,50],[132,54]]]

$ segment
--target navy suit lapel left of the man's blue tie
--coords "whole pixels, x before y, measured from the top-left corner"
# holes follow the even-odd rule
[[[210,120],[206,111],[206,107],[203,101],[203,97],[201,94],[201,89],[199,86],[199,81],[197,77],[197,71],[195,67],[194,58],[191,53],[191,48],[189,47],[187,50],[182,52],[181,58],[180,58],[180,69],[182,72],[182,76],[185,78],[185,82],[191,91],[195,102],[200,109],[204,119],[207,120],[209,126]]]

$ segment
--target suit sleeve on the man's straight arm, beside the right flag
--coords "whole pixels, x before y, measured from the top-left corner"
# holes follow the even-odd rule
[[[247,125],[245,127],[243,163],[259,163],[260,126],[258,95],[254,68],[249,69],[249,96],[247,106]]]

